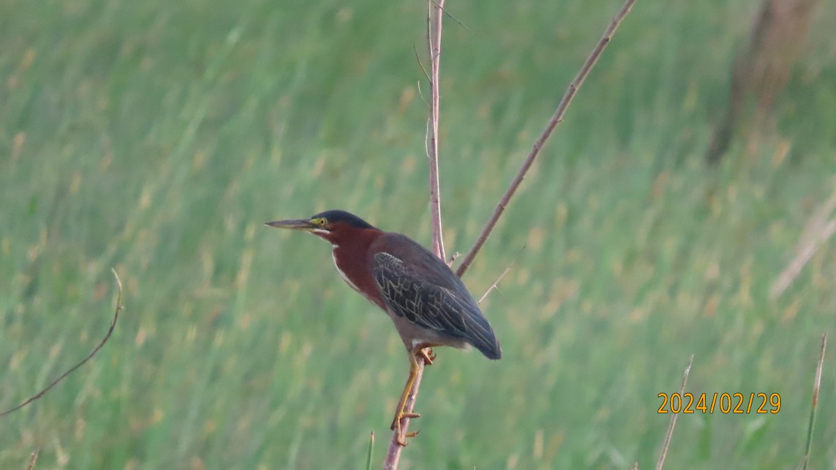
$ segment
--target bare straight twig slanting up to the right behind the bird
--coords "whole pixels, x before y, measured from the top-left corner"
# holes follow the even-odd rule
[[[595,45],[595,49],[593,49],[592,54],[589,54],[589,57],[586,59],[586,62],[584,62],[584,65],[581,67],[578,75],[572,80],[572,83],[569,84],[568,89],[566,89],[566,93],[563,94],[563,98],[558,104],[558,109],[554,111],[552,119],[548,121],[546,129],[543,130],[543,134],[541,134],[534,142],[534,146],[531,152],[528,153],[528,157],[526,157],[523,162],[523,166],[521,166],[519,171],[517,171],[517,176],[514,176],[513,181],[511,181],[511,185],[508,186],[505,194],[502,195],[502,198],[497,203],[497,207],[493,210],[491,217],[487,220],[485,227],[482,228],[482,232],[477,237],[476,242],[473,243],[473,248],[470,249],[470,251],[465,255],[465,258],[461,261],[461,265],[456,270],[456,274],[458,274],[460,278],[467,271],[467,268],[470,267],[471,263],[473,263],[473,258],[476,258],[476,255],[479,253],[482,245],[487,241],[487,237],[491,234],[493,227],[497,225],[497,221],[502,215],[502,212],[505,212],[508,202],[511,201],[514,193],[517,192],[517,187],[519,187],[523,182],[523,179],[525,179],[526,173],[528,173],[528,170],[534,163],[534,159],[537,158],[540,150],[543,149],[543,145],[545,145],[549,136],[552,135],[554,128],[557,127],[557,125],[563,120],[563,115],[566,114],[568,105],[572,102],[572,99],[578,92],[580,86],[584,84],[584,79],[586,79],[587,75],[589,75],[589,71],[593,68],[595,62],[598,61],[601,53],[604,52],[604,48],[607,47],[609,40],[613,37],[613,34],[615,33],[615,30],[618,29],[621,21],[625,16],[627,16],[627,13],[630,13],[630,8],[633,8],[633,3],[635,3],[635,0],[626,0],[624,2],[624,6],[621,7],[619,13],[615,15],[613,21],[609,23],[609,27],[607,27],[606,31],[604,31],[604,36],[599,40],[598,44]]]

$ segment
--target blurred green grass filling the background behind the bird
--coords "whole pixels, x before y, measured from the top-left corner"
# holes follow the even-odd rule
[[[466,284],[503,358],[439,350],[401,468],[641,468],[660,392],[777,392],[681,416],[669,468],[793,468],[825,244],[777,300],[836,176],[836,21],[822,3],[776,131],[702,158],[758,2],[639,2]],[[620,3],[448,3],[441,185],[466,252]],[[405,380],[390,319],[319,240],[268,220],[344,208],[429,244],[426,4],[0,3],[0,467],[379,467]],[[525,246],[521,252],[521,248]],[[518,256],[517,256],[517,253]],[[516,261],[515,261],[516,260]],[[825,362],[813,467],[836,462]]]

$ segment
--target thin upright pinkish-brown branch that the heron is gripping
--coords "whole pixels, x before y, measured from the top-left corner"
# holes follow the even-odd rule
[[[430,212],[432,217],[432,251],[441,260],[446,260],[444,252],[444,240],[441,236],[441,193],[439,191],[438,178],[438,115],[441,96],[439,94],[439,69],[441,66],[441,18],[444,15],[444,0],[427,0],[426,14],[426,43],[430,54],[430,120],[426,147],[427,158],[430,166]],[[425,360],[418,358],[418,374],[412,384],[412,390],[406,397],[404,411],[411,412],[415,409],[415,400],[418,397],[418,389],[421,387],[421,377],[424,375]],[[410,418],[404,417],[400,421],[400,427],[404,435],[409,430]],[[400,452],[403,446],[398,442],[398,432],[392,433],[389,442],[389,449],[386,452],[386,460],[383,464],[384,470],[395,470],[400,462]]]

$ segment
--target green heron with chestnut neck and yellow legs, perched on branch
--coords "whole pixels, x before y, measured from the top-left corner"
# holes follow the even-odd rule
[[[391,429],[405,446],[400,421],[418,417],[405,412],[418,374],[418,358],[432,364],[427,348],[473,345],[488,359],[502,351],[491,324],[465,284],[450,267],[405,235],[384,232],[345,211],[326,211],[307,219],[268,222],[270,227],[311,232],[334,246],[333,258],[344,281],[395,322],[410,358],[410,375],[400,396]]]

